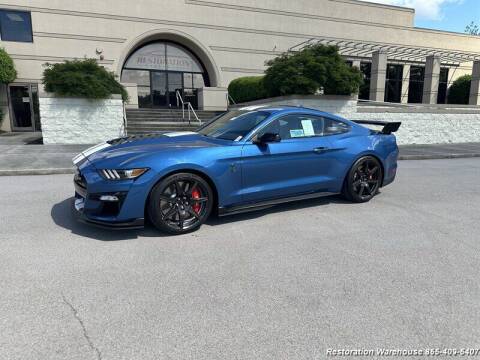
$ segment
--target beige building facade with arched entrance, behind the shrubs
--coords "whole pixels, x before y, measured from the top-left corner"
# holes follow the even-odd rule
[[[175,107],[180,95],[217,109],[233,79],[262,75],[308,41],[341,47],[365,73],[360,96],[375,101],[444,102],[480,57],[480,37],[415,28],[413,9],[356,0],[3,0],[0,10],[0,46],[18,70],[0,89],[6,131],[38,128],[47,62],[97,59],[127,85],[131,107]]]

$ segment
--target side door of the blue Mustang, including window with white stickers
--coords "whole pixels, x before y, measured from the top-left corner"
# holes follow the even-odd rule
[[[245,202],[329,191],[333,156],[324,135],[324,118],[289,114],[256,134],[279,134],[279,142],[247,141],[242,151],[242,199]]]

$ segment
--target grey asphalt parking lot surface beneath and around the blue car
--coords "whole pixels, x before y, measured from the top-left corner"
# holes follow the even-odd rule
[[[76,223],[71,175],[0,177],[0,359],[322,359],[480,347],[480,159],[403,161],[180,237]]]

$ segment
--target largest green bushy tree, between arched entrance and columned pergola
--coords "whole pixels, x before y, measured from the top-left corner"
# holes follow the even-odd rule
[[[264,84],[269,96],[351,95],[363,82],[356,67],[348,66],[336,46],[312,45],[267,62]]]

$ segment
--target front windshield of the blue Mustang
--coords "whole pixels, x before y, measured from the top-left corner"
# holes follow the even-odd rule
[[[229,111],[205,125],[198,132],[217,139],[240,141],[270,115],[271,113],[268,111]]]

